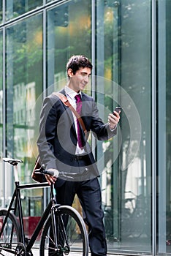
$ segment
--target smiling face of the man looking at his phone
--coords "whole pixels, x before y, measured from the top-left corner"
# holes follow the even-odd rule
[[[69,87],[72,90],[77,92],[82,91],[87,85],[90,75],[91,75],[91,69],[89,67],[84,67],[84,68],[80,67],[80,69],[76,71],[75,75],[73,74],[73,72],[70,72]]]

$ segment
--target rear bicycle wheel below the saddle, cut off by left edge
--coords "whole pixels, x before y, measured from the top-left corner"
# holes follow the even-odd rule
[[[0,231],[4,219],[7,216],[7,209],[0,210]],[[0,255],[20,255],[20,227],[14,214],[9,213],[4,231],[0,237]],[[11,253],[10,253],[11,252]]]

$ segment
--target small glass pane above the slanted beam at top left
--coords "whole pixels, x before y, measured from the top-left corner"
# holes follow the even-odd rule
[[[6,0],[6,20],[16,18],[19,15],[24,14],[25,12],[31,11],[36,7],[40,7],[43,3],[43,0]]]

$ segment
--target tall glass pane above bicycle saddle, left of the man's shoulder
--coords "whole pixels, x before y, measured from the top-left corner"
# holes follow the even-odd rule
[[[21,181],[37,157],[37,99],[42,99],[42,14],[7,28],[7,156],[23,159]]]

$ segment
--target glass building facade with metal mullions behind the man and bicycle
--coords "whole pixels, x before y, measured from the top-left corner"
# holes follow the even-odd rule
[[[65,85],[69,57],[83,54],[102,119],[122,108],[113,140],[90,137],[108,252],[171,255],[170,10],[170,0],[0,1],[0,208],[14,189],[2,158],[22,159],[20,181],[34,182],[42,99]],[[36,222],[48,192],[22,193],[24,217]]]

